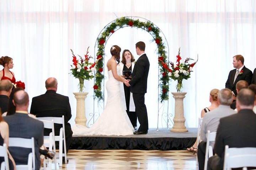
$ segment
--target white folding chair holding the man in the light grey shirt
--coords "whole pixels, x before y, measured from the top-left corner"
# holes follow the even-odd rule
[[[208,158],[213,156],[213,148],[212,148],[212,146],[210,146],[210,142],[215,141],[216,132],[210,132],[208,130],[206,138],[207,138],[207,142],[206,142],[206,155],[205,155],[205,159],[204,159],[204,170],[207,170]]]

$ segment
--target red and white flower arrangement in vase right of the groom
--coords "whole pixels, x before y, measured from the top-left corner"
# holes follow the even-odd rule
[[[182,80],[190,78],[191,72],[193,67],[195,66],[196,62],[189,63],[189,61],[193,60],[192,58],[186,58],[185,62],[181,62],[181,56],[180,56],[180,48],[178,50],[178,55],[176,56],[176,64],[173,62],[170,63],[164,63],[162,62],[162,66],[167,70],[166,72],[162,73],[162,76],[165,77],[168,75],[169,78],[173,80],[177,80],[178,83],[176,85],[177,92],[182,91]],[[170,67],[169,67],[170,65]]]

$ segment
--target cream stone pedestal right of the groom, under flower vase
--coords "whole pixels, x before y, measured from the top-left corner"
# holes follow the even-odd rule
[[[172,127],[172,132],[187,132],[185,126],[184,118],[184,108],[183,108],[183,98],[187,93],[182,92],[172,92],[173,97],[175,98],[175,114],[174,114],[174,126]]]

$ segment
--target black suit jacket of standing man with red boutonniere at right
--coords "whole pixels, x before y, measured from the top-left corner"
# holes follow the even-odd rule
[[[245,80],[249,85],[251,84],[252,71],[246,68],[245,66],[242,68],[242,70],[244,71],[244,73],[239,74],[238,77],[236,77],[235,82],[234,82],[234,78],[235,78],[236,68],[231,70],[228,75],[228,80],[226,81],[225,87],[233,91],[235,95],[237,94],[235,86],[238,81]]]

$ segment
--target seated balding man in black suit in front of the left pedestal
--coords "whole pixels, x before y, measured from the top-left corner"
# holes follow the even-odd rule
[[[32,98],[30,113],[36,115],[36,117],[62,117],[64,115],[66,150],[68,152],[73,134],[71,126],[68,123],[72,116],[69,98],[68,96],[56,93],[58,82],[55,78],[48,78],[45,84],[46,93]],[[59,135],[60,128],[62,128],[61,124],[54,124],[55,135]],[[50,132],[50,129],[44,130],[45,135],[49,135]]]

